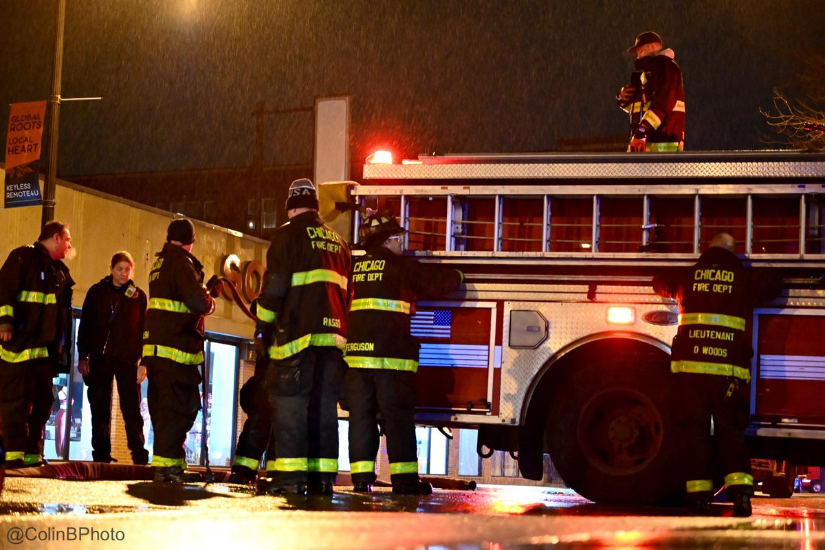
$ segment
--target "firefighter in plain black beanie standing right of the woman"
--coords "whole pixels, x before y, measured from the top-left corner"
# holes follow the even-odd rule
[[[175,219],[166,244],[149,271],[149,302],[143,363],[148,375],[148,407],[154,429],[155,482],[194,482],[185,472],[183,444],[200,411],[200,369],[204,362],[204,317],[214,301],[203,284],[203,266],[191,250],[195,226]]]

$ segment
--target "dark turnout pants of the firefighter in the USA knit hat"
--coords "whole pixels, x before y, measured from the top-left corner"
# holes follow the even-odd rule
[[[271,361],[266,388],[272,410],[266,471],[276,486],[333,483],[338,473],[337,401],[346,364],[341,350],[310,346]]]

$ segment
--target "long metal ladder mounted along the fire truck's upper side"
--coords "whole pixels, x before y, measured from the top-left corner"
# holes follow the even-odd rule
[[[818,187],[818,186],[817,186]],[[618,256],[649,256],[658,251],[695,255],[703,243],[715,233],[733,233],[738,241],[744,242],[748,256],[762,256],[784,259],[825,258],[825,198],[819,195],[815,186],[781,185],[709,185],[692,184],[685,186],[359,186],[352,190],[356,203],[363,212],[365,208],[384,209],[388,205],[399,215],[403,228],[408,230],[406,245],[414,237],[441,242],[443,247],[432,247],[432,251],[463,252],[474,250],[476,256],[521,256],[524,251],[530,255],[555,256],[563,251],[564,256],[583,254],[587,256],[609,256],[620,249]],[[557,206],[565,201],[578,200],[581,205],[587,201],[586,217],[557,216]],[[683,212],[671,216],[667,223],[657,221],[666,207],[667,200],[681,200]],[[441,200],[443,214],[429,216],[418,214],[423,209],[414,208],[422,201]],[[474,201],[492,201],[492,215],[474,219]],[[540,211],[540,217],[525,221],[518,217],[505,217],[508,200],[533,203],[533,210]],[[720,201],[725,208],[736,214],[719,214]],[[537,203],[537,204],[536,204]],[[476,203],[478,204],[478,203]],[[522,202],[521,204],[527,204]],[[654,205],[659,212],[654,209]],[[610,206],[610,219],[604,212]],[[705,211],[707,206],[707,212]],[[686,207],[686,208],[685,208]],[[620,210],[632,210],[624,215],[616,215]],[[437,209],[436,209],[437,210]],[[724,210],[724,209],[723,209]],[[427,212],[431,213],[432,208]],[[777,214],[780,212],[780,214]],[[620,221],[611,221],[613,219]],[[632,219],[628,221],[628,219]],[[361,217],[356,216],[356,234]],[[422,231],[429,223],[444,227],[442,232]],[[484,235],[474,236],[469,228],[476,225],[487,226]],[[540,227],[540,237],[505,237],[507,229],[525,225]],[[670,228],[681,232],[683,238],[675,241],[656,240],[657,228]],[[490,229],[492,228],[492,232]],[[568,228],[573,233],[585,236],[577,239],[575,249],[572,242],[556,238],[559,229]],[[756,232],[758,230],[758,237]],[[510,231],[509,233],[512,233]],[[563,232],[562,232],[563,233]],[[607,240],[611,235],[630,235],[625,240]],[[492,237],[490,237],[492,235]],[[688,237],[689,235],[689,237]],[[489,245],[481,250],[472,247],[472,239],[484,239]],[[522,241],[516,245],[516,242]],[[655,242],[654,242],[655,241]],[[507,245],[511,246],[507,246]],[[653,250],[651,245],[657,245]],[[566,248],[564,246],[567,246]],[[512,251],[512,250],[520,251]],[[678,250],[676,250],[678,249]],[[624,253],[623,253],[624,252]]]

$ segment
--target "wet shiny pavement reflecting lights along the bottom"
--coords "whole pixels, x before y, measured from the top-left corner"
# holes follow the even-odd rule
[[[554,487],[431,496],[254,496],[227,483],[7,477],[0,548],[823,548],[825,497],[754,501],[749,519],[593,504]]]

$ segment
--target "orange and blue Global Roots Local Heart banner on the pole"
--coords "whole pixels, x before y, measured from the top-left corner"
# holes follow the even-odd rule
[[[40,145],[45,101],[12,103],[6,138],[6,208],[40,204]]]

